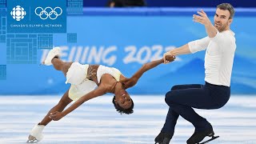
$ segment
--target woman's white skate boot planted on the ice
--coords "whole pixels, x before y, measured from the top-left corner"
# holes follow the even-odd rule
[[[39,142],[42,140],[43,135],[42,135],[42,130],[45,128],[44,125],[36,125],[34,128],[31,130],[30,135],[28,140],[26,141],[27,143],[35,143]]]

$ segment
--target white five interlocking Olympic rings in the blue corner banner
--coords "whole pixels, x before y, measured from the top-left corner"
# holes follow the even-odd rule
[[[34,13],[37,14],[42,20],[50,18],[52,20],[58,18],[62,14],[62,8],[55,7],[54,9],[51,7],[46,7],[43,9],[42,7],[37,7],[34,10]]]

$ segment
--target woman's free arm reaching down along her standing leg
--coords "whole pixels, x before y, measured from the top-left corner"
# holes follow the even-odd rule
[[[84,96],[82,96],[81,98],[79,98],[76,102],[74,102],[69,108],[67,108],[66,110],[62,111],[62,112],[54,112],[52,114],[50,114],[49,118],[51,118],[54,121],[58,121],[59,119],[61,119],[62,117],[65,117],[66,114],[69,114],[71,111],[75,110],[76,108],[78,108],[78,106],[81,106],[83,102],[86,102],[92,98],[96,98],[98,96],[101,96],[103,94],[106,94],[105,90],[102,89],[101,87],[98,87],[98,89],[96,90],[92,90],[90,91],[90,93],[85,94]]]

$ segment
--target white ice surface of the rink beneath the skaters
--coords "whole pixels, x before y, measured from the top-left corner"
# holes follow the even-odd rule
[[[39,143],[152,144],[166,118],[163,95],[131,95],[134,114],[118,114],[105,95],[85,102],[58,122],[51,122]],[[0,143],[26,143],[33,126],[40,122],[61,95],[0,96]],[[209,142],[256,143],[256,95],[232,95],[218,110],[196,110],[214,126],[220,138]],[[194,127],[179,117],[171,143],[184,144]]]

